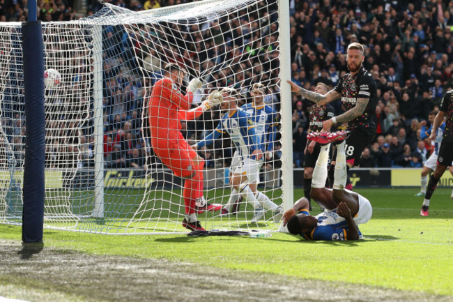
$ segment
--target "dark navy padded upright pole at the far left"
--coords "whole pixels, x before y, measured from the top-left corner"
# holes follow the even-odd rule
[[[26,117],[22,241],[42,243],[45,198],[44,47],[41,23],[36,18],[31,19],[22,25]]]

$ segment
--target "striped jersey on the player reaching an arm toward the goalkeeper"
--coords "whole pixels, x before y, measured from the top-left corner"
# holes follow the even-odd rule
[[[240,156],[248,157],[256,149],[263,149],[251,116],[240,108],[231,115],[227,112],[220,120],[217,128],[197,143],[198,148],[213,144],[214,139],[220,137],[222,133],[230,135],[231,141],[236,146]],[[254,159],[254,156],[251,158]]]

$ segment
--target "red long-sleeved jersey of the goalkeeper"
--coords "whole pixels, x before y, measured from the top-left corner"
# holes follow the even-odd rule
[[[184,96],[176,83],[167,77],[155,83],[148,106],[152,144],[158,139],[183,138],[180,120],[194,119],[202,113],[201,110],[187,112],[192,98],[193,93]]]

